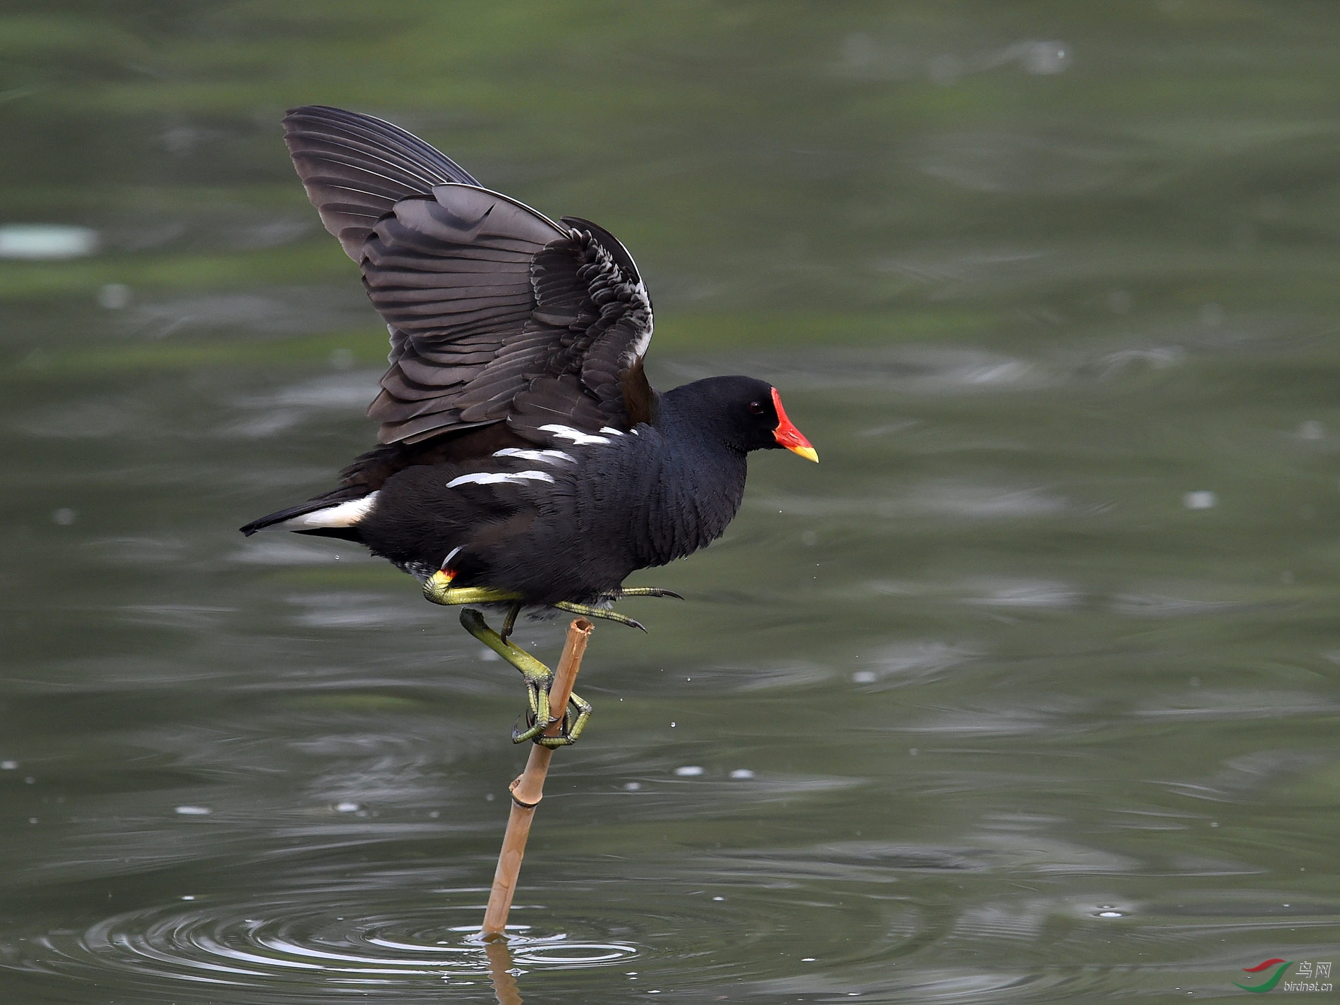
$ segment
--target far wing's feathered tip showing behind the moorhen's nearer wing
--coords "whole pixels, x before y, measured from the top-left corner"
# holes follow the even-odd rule
[[[284,117],[284,142],[326,229],[354,261],[391,206],[434,185],[478,182],[450,157],[390,122],[308,105]]]

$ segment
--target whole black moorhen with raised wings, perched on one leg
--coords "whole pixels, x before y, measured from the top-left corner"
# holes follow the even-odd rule
[[[490,192],[382,119],[293,109],[285,141],[307,194],[363,272],[391,336],[367,414],[379,446],[340,485],[243,527],[366,545],[442,604],[507,604],[503,632],[461,622],[521,670],[540,736],[552,675],[508,636],[527,606],[642,627],[608,610],[628,574],[716,540],[745,489],[746,454],[819,456],[770,385],[713,377],[658,394],[642,358],[651,300],[608,230],[559,222]]]

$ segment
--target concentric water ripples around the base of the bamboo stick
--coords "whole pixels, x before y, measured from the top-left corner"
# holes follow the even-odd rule
[[[489,977],[490,959],[477,935],[480,890],[438,890],[415,899],[406,899],[403,890],[389,892],[377,899],[367,890],[328,888],[243,903],[182,898],[113,915],[83,931],[59,929],[29,938],[28,955],[11,965],[96,980],[122,993],[162,992],[178,982],[245,988],[252,1002]],[[509,965],[607,966],[641,951],[602,938],[599,925],[588,919],[568,917],[565,923],[565,931],[508,926]]]

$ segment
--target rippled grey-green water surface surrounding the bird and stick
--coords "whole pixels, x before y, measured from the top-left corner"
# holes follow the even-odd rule
[[[1340,955],[1340,23],[606,15],[0,16],[0,1000],[1163,1001]],[[773,381],[823,454],[598,628],[507,945],[516,674],[386,563],[234,531],[374,434],[306,100],[607,224],[658,386]]]

